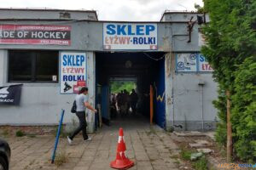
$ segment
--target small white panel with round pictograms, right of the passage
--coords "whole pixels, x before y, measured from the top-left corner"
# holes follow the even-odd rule
[[[176,71],[196,71],[197,54],[177,54]]]

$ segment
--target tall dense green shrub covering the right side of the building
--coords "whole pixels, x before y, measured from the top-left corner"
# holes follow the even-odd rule
[[[226,92],[230,92],[230,122],[234,158],[256,161],[256,1],[204,1],[210,22],[203,27],[207,45],[201,48],[214,69],[220,122],[216,139],[226,145]]]

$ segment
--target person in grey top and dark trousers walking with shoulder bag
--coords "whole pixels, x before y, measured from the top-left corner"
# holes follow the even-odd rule
[[[86,108],[90,109],[90,111],[97,112],[88,102],[88,88],[81,88],[79,94],[76,96],[76,105],[77,111],[76,115],[79,117],[79,127],[72,133],[72,135],[67,136],[68,144],[72,144],[73,138],[80,132],[83,132],[84,140],[91,140],[91,138],[86,133],[86,119],[85,119],[85,111]]]

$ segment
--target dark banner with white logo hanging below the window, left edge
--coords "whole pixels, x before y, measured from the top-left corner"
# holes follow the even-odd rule
[[[20,105],[21,86],[22,84],[0,87],[0,105]]]

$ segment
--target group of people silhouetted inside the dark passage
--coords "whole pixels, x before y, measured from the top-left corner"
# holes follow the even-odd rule
[[[111,113],[116,116],[119,113],[121,116],[128,115],[131,111],[132,114],[137,112],[138,95],[134,89],[131,94],[127,90],[121,90],[118,94],[111,94]]]

